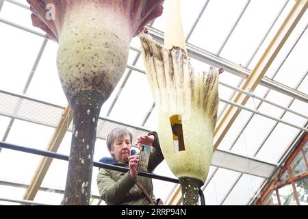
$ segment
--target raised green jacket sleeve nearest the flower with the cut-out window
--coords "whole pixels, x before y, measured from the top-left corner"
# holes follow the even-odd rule
[[[155,131],[148,133],[148,136],[155,136],[154,142],[152,144],[152,153],[149,159],[148,171],[153,172],[154,169],[164,160],[164,155],[160,149],[158,135]]]

